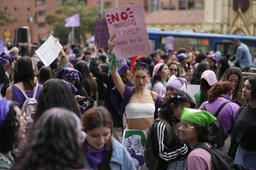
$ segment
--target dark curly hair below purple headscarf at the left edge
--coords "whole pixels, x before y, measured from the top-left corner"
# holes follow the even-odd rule
[[[17,136],[15,134],[19,129],[20,123],[16,119],[16,111],[14,110],[15,106],[19,107],[19,104],[17,102],[12,102],[8,115],[6,116],[5,123],[0,130],[0,152],[2,153],[8,153],[17,145]]]

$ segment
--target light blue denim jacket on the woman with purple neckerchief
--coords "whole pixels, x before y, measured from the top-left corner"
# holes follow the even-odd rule
[[[136,170],[132,157],[126,151],[122,144],[120,144],[115,138],[111,137],[112,140],[112,155],[110,158],[110,169],[112,170]],[[84,168],[90,170],[97,170],[97,167],[92,167],[90,162],[85,162]]]

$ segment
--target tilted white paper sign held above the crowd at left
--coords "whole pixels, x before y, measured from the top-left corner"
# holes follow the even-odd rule
[[[62,46],[55,38],[50,35],[49,38],[35,51],[45,66],[49,66],[59,55]]]

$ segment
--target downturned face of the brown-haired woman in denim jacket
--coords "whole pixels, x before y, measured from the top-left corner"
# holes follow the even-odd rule
[[[96,127],[87,131],[86,141],[95,149],[101,149],[111,137],[111,129],[106,126]]]

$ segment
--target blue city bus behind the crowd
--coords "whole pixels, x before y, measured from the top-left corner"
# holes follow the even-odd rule
[[[192,46],[194,50],[198,50],[203,53],[207,53],[211,50],[220,51],[222,56],[226,55],[226,53],[235,53],[235,48],[232,42],[233,39],[238,38],[249,47],[253,56],[256,55],[256,37],[253,36],[209,34],[203,32],[161,31],[157,28],[148,28],[148,36],[153,50],[166,49],[165,38],[167,36],[173,36],[175,39],[190,38],[190,46]]]

